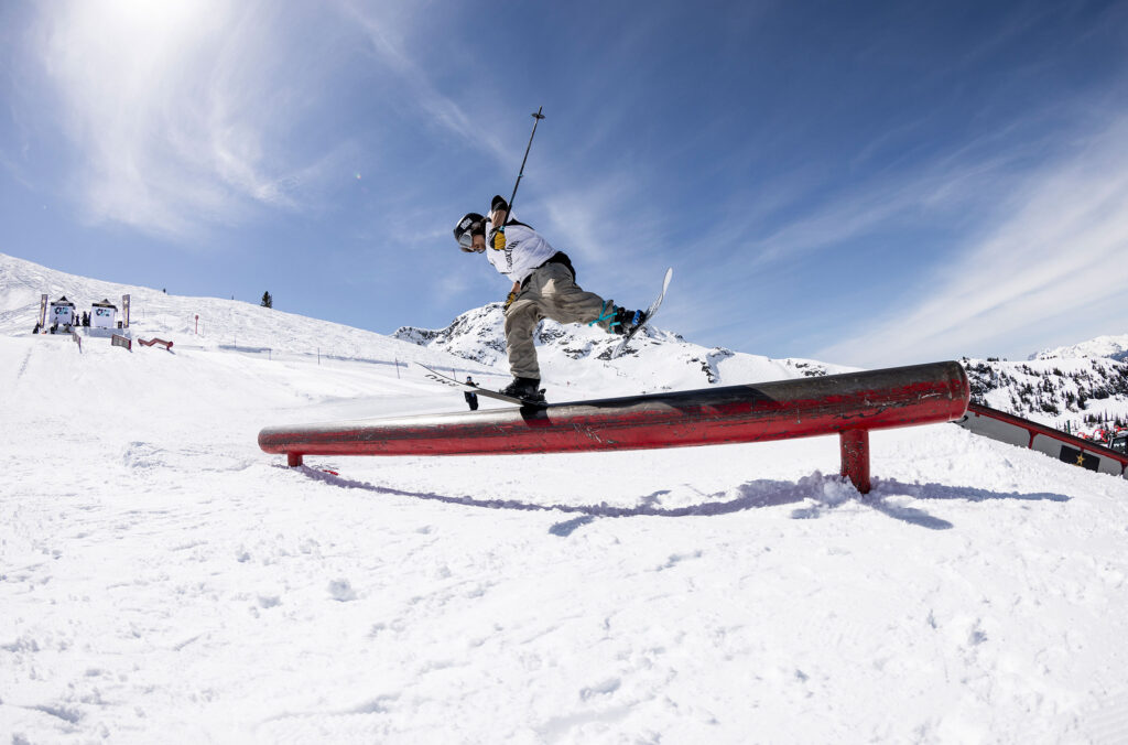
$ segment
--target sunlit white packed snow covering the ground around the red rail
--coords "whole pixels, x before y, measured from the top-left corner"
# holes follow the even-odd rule
[[[288,468],[259,429],[457,411],[371,361],[457,358],[158,300],[171,351],[0,336],[5,742],[1122,742],[1123,479],[951,424],[874,432],[864,497],[835,438]],[[703,385],[552,363],[557,401]]]

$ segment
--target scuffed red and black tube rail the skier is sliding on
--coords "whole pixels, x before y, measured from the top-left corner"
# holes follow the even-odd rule
[[[258,433],[291,466],[305,455],[503,455],[634,450],[840,435],[841,473],[870,490],[869,432],[949,422],[968,407],[957,362],[848,373],[545,409],[493,409]]]

